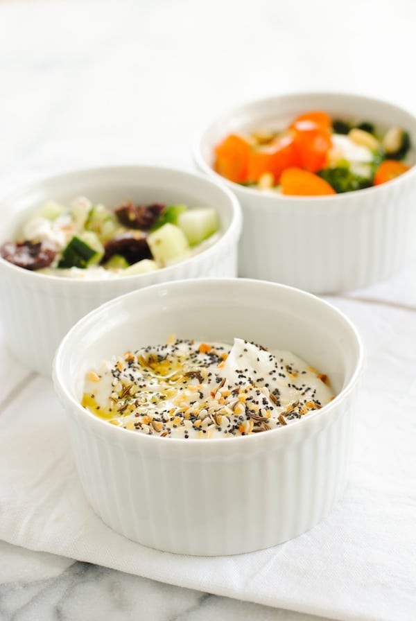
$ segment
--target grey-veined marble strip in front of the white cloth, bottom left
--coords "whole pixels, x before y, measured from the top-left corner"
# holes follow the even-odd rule
[[[0,621],[326,621],[0,542]]]

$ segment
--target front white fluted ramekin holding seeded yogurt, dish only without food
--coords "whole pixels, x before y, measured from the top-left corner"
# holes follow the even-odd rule
[[[81,407],[85,372],[129,349],[178,338],[245,338],[297,353],[336,398],[283,428],[227,439],[167,439],[116,428]],[[85,495],[129,539],[180,554],[238,554],[322,520],[347,480],[363,345],[336,308],[309,293],[245,279],[198,279],[124,295],[84,317],[57,351]]]

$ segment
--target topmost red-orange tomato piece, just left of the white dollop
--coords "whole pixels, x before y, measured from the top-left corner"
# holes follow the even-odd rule
[[[331,132],[306,120],[295,123],[294,131],[300,167],[310,170],[311,173],[322,170],[332,146]]]

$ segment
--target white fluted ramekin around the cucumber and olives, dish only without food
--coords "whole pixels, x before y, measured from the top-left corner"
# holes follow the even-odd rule
[[[155,283],[198,277],[233,277],[241,233],[241,209],[227,189],[202,175],[156,166],[114,166],[75,170],[28,185],[0,203],[0,245],[44,200],[69,201],[85,195],[93,202],[182,202],[211,205],[222,234],[191,259],[168,268],[129,277],[77,280],[17,268],[0,258],[0,321],[17,360],[49,375],[55,350],[65,333],[103,302]]]

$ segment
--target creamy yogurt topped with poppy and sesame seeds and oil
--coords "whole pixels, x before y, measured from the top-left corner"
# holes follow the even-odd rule
[[[286,426],[333,399],[327,376],[288,351],[176,340],[105,360],[82,405],[147,435],[227,438]]]

